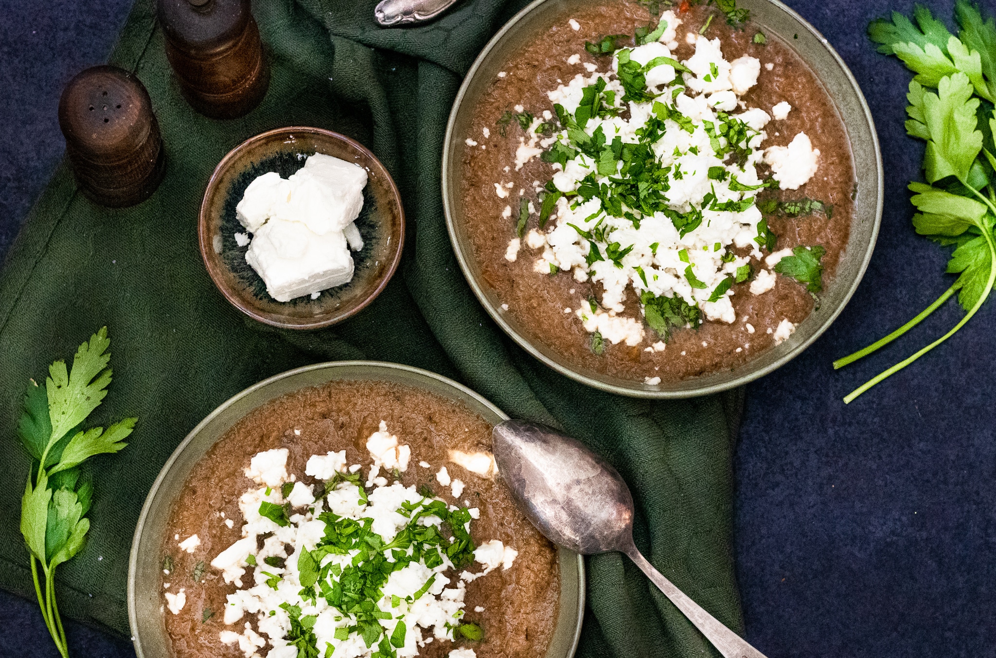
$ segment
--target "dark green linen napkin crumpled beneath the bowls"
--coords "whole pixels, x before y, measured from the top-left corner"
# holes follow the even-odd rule
[[[94,205],[60,167],[0,274],[0,586],[33,598],[18,531],[28,458],[14,447],[29,377],[107,325],[115,380],[91,420],[139,418],[130,445],[93,460],[88,546],[59,569],[62,611],[128,635],[125,577],[145,494],[186,433],[239,390],[323,360],[407,363],[460,380],[514,417],[560,424],[608,458],[637,504],[636,544],[730,627],[743,621],[732,559],[732,452],[742,392],[652,402],[602,393],[519,349],[490,321],[456,264],[442,213],[440,157],[452,100],[474,56],[525,3],[465,0],[425,27],[384,30],[375,0],[257,2],[273,75],[242,118],[205,118],[170,79],[154,3],[138,0],[111,62],[152,98],[168,169],[155,194],[123,210]],[[55,109],[53,109],[55,111]],[[380,297],[333,329],[282,332],[242,317],[212,285],[197,209],[233,146],[282,125],[351,135],[390,170],[405,202],[402,267]],[[579,655],[714,654],[618,553],[591,557]]]

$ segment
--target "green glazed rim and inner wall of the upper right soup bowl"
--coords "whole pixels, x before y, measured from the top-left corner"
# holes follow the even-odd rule
[[[524,349],[555,370],[590,386],[632,397],[692,397],[733,388],[798,356],[840,315],[865,274],[878,234],[882,203],[881,155],[871,111],[844,61],[812,25],[777,0],[738,0],[738,7],[749,9],[753,22],[765,34],[776,35],[791,45],[816,74],[840,113],[851,140],[858,189],[848,246],[841,255],[837,273],[821,295],[820,308],[803,321],[795,333],[730,370],[650,386],[567,362],[560,353],[538,339],[541,328],[524,327],[501,312],[501,301],[484,281],[466,233],[466,222],[474,219],[464,213],[460,170],[464,151],[469,148],[465,140],[470,136],[473,110],[505,64],[550,25],[566,21],[571,11],[608,1],[536,0],[509,21],[474,62],[450,113],[443,147],[443,205],[450,240],[464,276],[488,314]]]

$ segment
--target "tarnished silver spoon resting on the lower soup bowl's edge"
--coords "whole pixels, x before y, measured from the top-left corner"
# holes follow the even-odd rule
[[[765,658],[653,568],[632,543],[632,496],[620,474],[581,442],[523,420],[495,426],[498,472],[547,539],[590,555],[619,550],[725,658]]]

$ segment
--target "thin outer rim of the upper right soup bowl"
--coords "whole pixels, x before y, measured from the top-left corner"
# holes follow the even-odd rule
[[[876,202],[875,202],[874,222],[871,228],[871,239],[869,240],[869,245],[865,250],[864,258],[862,259],[861,264],[858,267],[857,276],[855,276],[854,281],[852,282],[851,286],[842,297],[841,302],[840,304],[838,304],[837,308],[834,309],[833,313],[829,314],[826,317],[826,319],[821,324],[819,329],[817,329],[807,339],[803,340],[798,345],[793,347],[790,351],[786,352],[778,359],[772,361],[771,363],[768,363],[763,367],[759,367],[749,372],[745,371],[743,374],[734,377],[729,381],[709,384],[696,388],[687,388],[682,390],[660,390],[660,389],[651,389],[651,388],[638,388],[637,386],[640,384],[640,382],[636,380],[633,380],[630,386],[623,386],[619,384],[609,383],[582,374],[581,372],[576,371],[572,367],[564,365],[563,363],[560,363],[554,360],[553,358],[547,356],[546,354],[544,354],[536,345],[533,344],[532,341],[530,341],[521,333],[513,329],[512,326],[505,320],[505,318],[500,313],[498,313],[498,310],[495,309],[488,302],[487,294],[484,288],[481,286],[480,282],[478,282],[471,275],[470,256],[468,254],[465,254],[464,250],[460,248],[460,243],[459,240],[457,239],[457,234],[456,234],[456,222],[454,221],[454,211],[450,207],[450,200],[449,200],[450,185],[446,172],[449,168],[450,146],[453,143],[453,136],[454,136],[453,132],[456,125],[456,117],[457,113],[460,110],[460,106],[463,103],[464,96],[466,96],[467,91],[470,88],[470,85],[472,84],[477,75],[478,69],[480,69],[484,63],[484,60],[491,53],[491,51],[498,45],[498,43],[501,42],[502,39],[504,39],[505,35],[508,32],[510,32],[516,26],[516,24],[518,24],[523,18],[532,13],[537,7],[550,1],[556,1],[556,0],[534,0],[525,8],[523,8],[521,11],[519,11],[519,13],[513,16],[507,23],[505,23],[505,25],[502,26],[502,28],[497,33],[495,33],[495,35],[491,38],[491,40],[488,41],[487,45],[484,46],[480,54],[478,54],[477,59],[474,60],[474,63],[471,65],[470,69],[467,70],[466,75],[463,77],[463,82],[460,85],[460,89],[457,92],[456,98],[453,101],[453,108],[450,110],[449,113],[449,120],[446,122],[446,134],[445,137],[443,138],[443,146],[442,146],[442,166],[440,169],[441,181],[442,181],[443,214],[446,217],[446,232],[449,234],[449,241],[451,246],[453,247],[453,253],[456,255],[456,260],[460,264],[460,270],[463,272],[463,276],[467,280],[467,283],[470,285],[471,290],[473,290],[474,295],[477,297],[478,302],[480,302],[481,306],[484,307],[484,310],[487,312],[487,314],[491,316],[491,319],[503,331],[505,331],[505,333],[507,333],[513,340],[515,340],[520,347],[525,349],[527,352],[532,354],[534,357],[539,359],[544,364],[552,367],[554,370],[560,372],[561,374],[566,375],[571,379],[579,381],[587,386],[592,386],[593,388],[604,390],[610,393],[617,393],[619,395],[624,395],[627,397],[650,398],[650,399],[678,399],[678,398],[698,397],[700,395],[708,395],[710,393],[719,393],[721,391],[729,390],[731,388],[736,388],[737,386],[742,386],[748,382],[754,381],[755,379],[763,377],[764,375],[769,374],[770,372],[782,367],[783,365],[794,359],[796,356],[801,354],[803,351],[805,351],[811,344],[813,344],[814,341],[816,341],[817,338],[823,335],[824,331],[830,329],[830,326],[834,324],[838,316],[840,316],[841,313],[844,311],[845,307],[848,306],[848,303],[851,301],[851,298],[854,296],[855,291],[858,290],[858,286],[861,285],[862,280],[865,278],[865,272],[868,270],[869,263],[871,262],[871,254],[874,252],[875,243],[877,242],[878,239],[878,230],[881,226],[881,212],[884,200],[884,187],[885,187],[884,172],[882,169],[882,161],[881,161],[881,148],[879,146],[878,132],[875,128],[874,118],[871,116],[871,109],[869,108],[868,101],[865,99],[865,94],[862,92],[862,88],[858,84],[858,81],[855,79],[855,76],[851,72],[851,69],[844,62],[844,59],[840,56],[837,50],[833,46],[831,46],[827,38],[824,37],[819,30],[813,27],[813,25],[811,25],[809,21],[800,16],[798,12],[793,10],[791,7],[786,6],[784,3],[780,2],[779,0],[760,0],[762,2],[767,2],[771,5],[774,5],[777,9],[780,9],[781,11],[788,14],[792,19],[794,19],[799,23],[802,29],[808,31],[820,41],[823,47],[827,50],[828,53],[830,53],[831,57],[841,68],[848,83],[850,84],[851,88],[854,90],[855,94],[857,95],[858,101],[861,105],[861,109],[864,112],[865,118],[868,121],[869,128],[871,131],[871,145],[873,147],[874,159],[875,159],[875,182],[876,182],[874,190]],[[813,68],[811,67],[811,69]],[[815,69],[813,69],[813,73],[814,75],[817,76],[818,79],[822,78],[820,73]],[[746,367],[749,364],[750,361],[747,361],[746,363],[744,363],[742,367]],[[694,377],[688,377],[684,381],[692,379],[694,379]]]

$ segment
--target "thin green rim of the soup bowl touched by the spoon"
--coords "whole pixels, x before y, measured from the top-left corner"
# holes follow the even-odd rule
[[[310,372],[312,370],[323,370],[330,369],[336,370],[340,368],[364,368],[375,373],[377,370],[401,370],[407,372],[408,374],[413,374],[416,377],[423,377],[428,379],[434,379],[435,381],[443,384],[444,386],[455,389],[460,393],[470,397],[475,402],[479,403],[496,416],[502,418],[503,420],[508,420],[509,416],[504,411],[501,410],[497,405],[492,403],[486,397],[478,393],[477,391],[457,382],[449,377],[445,377],[436,372],[430,370],[425,370],[422,368],[414,367],[411,365],[403,365],[401,363],[391,363],[388,361],[374,361],[374,360],[347,360],[347,361],[325,361],[322,363],[313,363],[311,365],[304,365],[301,367],[293,368],[291,370],[286,370],[284,372],[275,374],[271,377],[267,377],[262,381],[243,389],[242,391],[231,396],[217,407],[215,407],[209,414],[207,414],[203,420],[201,420],[197,425],[191,429],[183,440],[180,441],[179,445],[173,450],[169,455],[169,458],[162,465],[159,470],[158,475],[155,477],[155,481],[152,482],[152,486],[149,488],[148,493],[145,495],[145,501],[141,506],[141,512],[138,514],[138,521],[135,524],[134,533],[131,536],[131,547],[128,550],[128,562],[127,562],[127,619],[128,628],[131,631],[131,644],[134,647],[135,654],[137,658],[143,658],[144,653],[141,648],[141,639],[138,632],[138,611],[135,605],[135,581],[136,581],[136,570],[138,566],[138,546],[139,540],[141,539],[142,533],[145,530],[145,522],[149,515],[152,507],[152,502],[155,499],[159,488],[162,486],[163,482],[172,469],[173,464],[179,459],[181,453],[187,448],[187,446],[193,442],[197,434],[199,434],[207,425],[209,425],[217,416],[224,413],[231,405],[238,402],[240,399],[252,395],[256,391],[269,386],[270,384],[277,382],[281,379],[286,379],[289,377],[294,377],[304,372]],[[372,377],[373,378],[373,377]],[[334,381],[334,378],[330,378],[329,381]],[[256,407],[254,407],[256,408]],[[252,411],[252,409],[250,409]],[[246,413],[249,413],[248,411]],[[244,416],[243,416],[244,417]],[[236,421],[238,422],[238,421]],[[564,548],[558,547],[559,550],[564,550]],[[584,555],[580,553],[575,553],[577,557],[577,568],[578,568],[578,602],[575,610],[578,622],[573,630],[570,650],[565,654],[564,658],[573,658],[578,649],[578,644],[581,641],[581,630],[582,625],[585,621],[585,604],[586,597],[588,593],[586,568],[585,568],[585,558]]]

